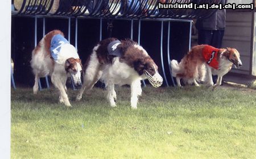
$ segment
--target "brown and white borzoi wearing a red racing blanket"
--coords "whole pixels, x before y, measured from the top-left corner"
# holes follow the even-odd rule
[[[183,57],[180,63],[176,60],[171,61],[172,76],[176,77],[179,87],[181,87],[181,78],[199,86],[196,80],[203,78],[206,68],[205,80],[208,86],[213,86],[212,75],[218,76],[217,83],[213,86],[214,89],[221,85],[222,76],[229,72],[233,64],[237,68],[242,66],[237,49],[217,49],[209,45],[197,45]]]

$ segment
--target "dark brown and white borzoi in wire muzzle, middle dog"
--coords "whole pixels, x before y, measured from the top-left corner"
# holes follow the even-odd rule
[[[158,66],[140,45],[130,39],[105,39],[93,48],[84,65],[84,83],[76,99],[79,101],[85,90],[101,80],[107,87],[110,106],[116,106],[114,85],[127,84],[131,87],[131,107],[137,108],[138,96],[142,94],[141,80],[146,78],[155,87],[162,85]]]

